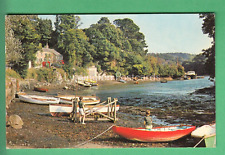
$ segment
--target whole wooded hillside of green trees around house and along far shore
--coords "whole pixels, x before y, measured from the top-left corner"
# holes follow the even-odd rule
[[[80,74],[95,65],[100,73],[115,75],[184,75],[183,62],[195,57],[186,53],[148,53],[145,35],[132,19],[110,21],[102,17],[80,29],[80,17],[56,15],[51,20],[37,15],[6,17],[6,64],[26,78],[28,62],[35,66],[35,53],[46,44],[63,55],[68,75]]]

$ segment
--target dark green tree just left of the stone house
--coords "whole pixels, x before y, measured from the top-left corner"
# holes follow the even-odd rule
[[[12,67],[21,77],[25,78],[28,69],[28,62],[34,64],[35,54],[40,48],[40,35],[37,31],[37,15],[12,15],[10,22],[12,30],[17,39],[22,43],[23,57]]]

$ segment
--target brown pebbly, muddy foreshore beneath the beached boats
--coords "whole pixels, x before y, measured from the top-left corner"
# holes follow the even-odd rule
[[[64,90],[62,87],[54,87],[49,91],[50,93],[55,93]],[[25,90],[25,92],[31,93],[32,91]],[[204,91],[204,93],[212,93],[212,95],[213,92],[211,89],[207,90],[207,92]],[[85,121],[86,124],[83,125],[73,122],[69,116],[51,116],[48,105],[24,103],[15,98],[7,109],[7,116],[12,114],[19,115],[23,120],[23,127],[15,129],[10,125],[6,126],[7,148],[193,147],[198,142],[190,135],[173,142],[136,142],[126,140],[113,133],[110,129],[113,125],[143,127],[142,117],[144,117],[146,109],[146,107],[121,105],[120,110],[117,112],[118,120],[115,123],[109,120],[96,121],[89,118]],[[151,114],[160,118],[162,111],[160,108],[152,109]],[[195,114],[193,117],[191,116],[193,116],[193,111],[168,111],[164,112],[161,118],[173,123],[173,120],[177,117],[188,117],[196,126],[215,121],[215,113]],[[196,117],[207,120],[207,122],[195,122]],[[154,124],[154,126],[160,126],[160,124]],[[105,133],[100,135],[103,132]]]

